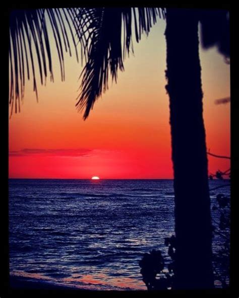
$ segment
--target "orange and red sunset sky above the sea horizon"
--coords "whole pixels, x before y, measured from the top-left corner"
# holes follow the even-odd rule
[[[105,179],[172,178],[169,100],[164,86],[166,69],[165,21],[149,36],[134,40],[134,54],[125,60],[117,84],[109,84],[84,121],[75,104],[82,66],[65,54],[66,81],[61,82],[57,54],[54,83],[26,83],[21,112],[9,120],[10,178]],[[80,50],[80,47],[79,47]],[[212,48],[200,49],[207,148],[230,155],[229,65]],[[209,172],[227,170],[228,160],[209,157]]]

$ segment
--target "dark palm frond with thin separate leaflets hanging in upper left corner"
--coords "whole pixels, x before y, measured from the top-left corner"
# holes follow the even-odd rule
[[[50,74],[50,80],[53,81],[49,27],[54,35],[61,77],[62,80],[65,80],[64,52],[69,51],[69,54],[72,55],[67,29],[70,29],[77,55],[75,36],[70,24],[74,23],[74,17],[75,9],[15,10],[11,12],[9,44],[11,115],[14,106],[15,112],[20,111],[20,99],[24,98],[26,70],[29,80],[31,67],[33,90],[37,99],[36,70],[39,70],[41,84],[43,84],[43,80],[46,83],[47,72]]]

